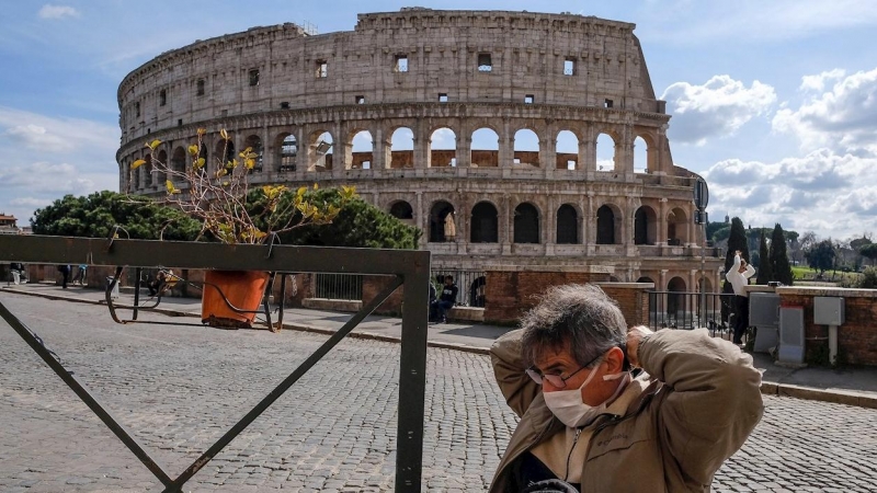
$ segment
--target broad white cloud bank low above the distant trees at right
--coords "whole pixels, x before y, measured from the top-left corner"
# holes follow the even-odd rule
[[[715,215],[824,237],[877,229],[877,158],[823,148],[774,163],[729,159],[703,175]]]

